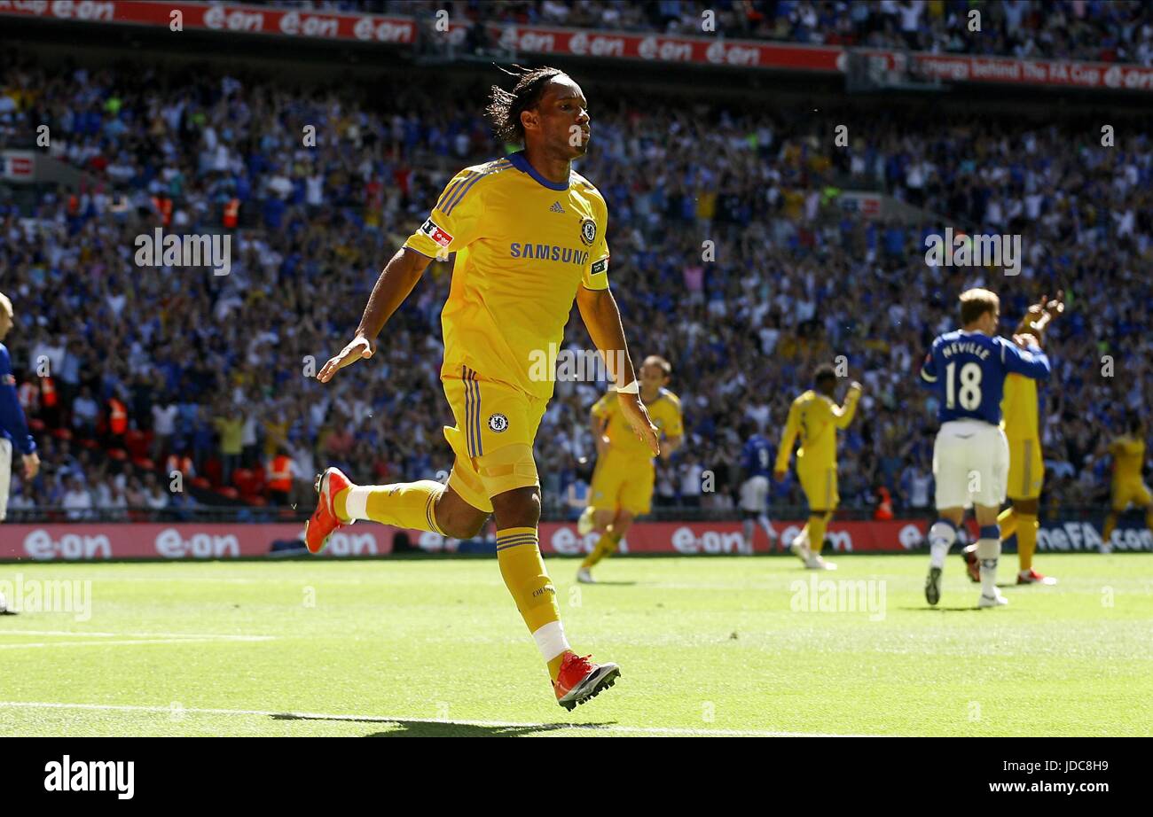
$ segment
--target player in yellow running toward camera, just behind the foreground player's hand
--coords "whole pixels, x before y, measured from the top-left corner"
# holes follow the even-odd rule
[[[669,361],[657,355],[649,355],[641,364],[641,402],[663,434],[662,460],[677,451],[684,439],[680,399],[665,388],[671,373]],[[596,470],[589,486],[588,507],[576,530],[581,536],[596,530],[601,538],[576,572],[576,580],[586,584],[594,581],[593,566],[616,552],[633,520],[651,509],[656,483],[653,452],[632,433],[620,414],[617,393],[609,392],[597,400],[591,414]]]

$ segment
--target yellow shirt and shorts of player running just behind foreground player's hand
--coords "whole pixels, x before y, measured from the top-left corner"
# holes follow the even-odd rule
[[[662,388],[656,400],[645,403],[657,437],[680,437],[685,433],[680,399]],[[596,462],[589,486],[589,506],[596,509],[623,508],[634,516],[653,509],[653,486],[656,467],[648,446],[633,433],[620,413],[616,392],[608,392],[593,406],[593,416],[606,421],[604,434],[609,447]]]

